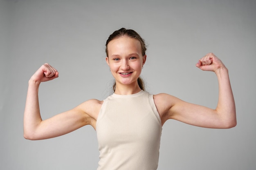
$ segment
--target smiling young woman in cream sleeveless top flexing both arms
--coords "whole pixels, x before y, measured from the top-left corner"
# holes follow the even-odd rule
[[[216,73],[219,98],[216,109],[184,102],[165,93],[144,91],[139,75],[146,62],[144,40],[133,30],[119,29],[106,42],[106,62],[115,78],[114,93],[42,120],[38,103],[41,82],[58,77],[58,71],[43,64],[29,80],[24,113],[24,137],[31,140],[58,137],[91,125],[97,132],[98,170],[156,170],[162,125],[168,119],[205,128],[236,126],[236,108],[228,70],[213,53],[196,66]]]

